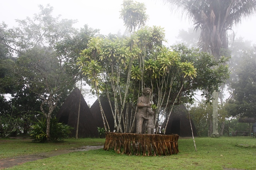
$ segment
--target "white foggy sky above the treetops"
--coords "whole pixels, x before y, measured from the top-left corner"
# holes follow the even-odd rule
[[[172,14],[162,0],[136,1],[146,5],[149,15],[147,25],[165,29],[168,45],[175,43],[180,29],[187,30],[193,24],[188,20],[180,21],[178,15]],[[0,4],[0,22],[4,21],[9,27],[16,26],[15,19],[32,18],[33,14],[39,12],[39,4],[50,4],[54,7],[54,16],[60,14],[62,18],[78,20],[78,28],[88,24],[89,27],[100,29],[104,35],[125,31],[123,21],[119,19],[122,0],[1,0]],[[256,17],[242,21],[234,31],[236,37],[241,36],[256,43]]]

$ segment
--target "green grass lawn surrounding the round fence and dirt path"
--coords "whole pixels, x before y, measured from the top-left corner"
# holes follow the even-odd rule
[[[2,157],[24,154],[25,149],[28,154],[104,143],[104,139],[66,139],[57,144],[15,140],[3,143],[0,139],[0,155],[5,155]],[[27,162],[7,170],[256,170],[256,138],[198,137],[195,141],[197,152],[193,139],[179,139],[180,153],[171,156],[127,156],[98,149]]]

